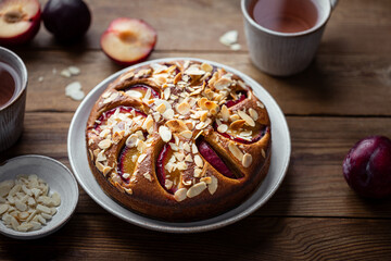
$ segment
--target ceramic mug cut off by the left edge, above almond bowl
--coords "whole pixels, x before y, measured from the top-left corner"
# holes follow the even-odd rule
[[[0,47],[0,62],[11,66],[16,78],[12,98],[0,107],[0,151],[4,151],[22,134],[26,104],[27,70],[20,57],[3,47]],[[1,87],[0,83],[0,91]]]

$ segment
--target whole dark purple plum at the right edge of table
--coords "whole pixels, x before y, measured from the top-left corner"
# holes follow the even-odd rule
[[[360,140],[343,161],[343,175],[363,197],[391,196],[391,140],[384,136]]]

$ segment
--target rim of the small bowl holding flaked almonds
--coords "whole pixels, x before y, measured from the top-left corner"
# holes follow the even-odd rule
[[[37,238],[41,238],[41,237],[46,237],[49,236],[51,234],[53,234],[54,232],[59,231],[61,227],[63,227],[72,217],[72,215],[74,214],[76,207],[77,207],[77,202],[78,202],[78,197],[79,197],[79,190],[78,190],[78,186],[77,186],[77,181],[75,178],[75,176],[72,174],[72,172],[70,171],[70,169],[64,165],[63,163],[61,163],[60,161],[47,157],[47,156],[40,156],[40,154],[24,154],[24,156],[17,156],[11,159],[8,159],[5,161],[2,161],[0,163],[0,167],[9,164],[10,162],[14,162],[14,161],[21,161],[27,158],[31,158],[31,159],[41,159],[43,161],[50,161],[56,165],[59,165],[60,167],[62,167],[63,170],[65,170],[67,172],[67,174],[71,176],[71,179],[73,181],[73,184],[75,185],[75,191],[77,195],[75,195],[75,201],[72,204],[72,210],[71,212],[66,213],[66,215],[64,215],[62,217],[62,220],[53,225],[53,228],[49,229],[49,231],[33,231],[33,232],[28,232],[28,233],[24,233],[24,232],[15,232],[12,229],[0,229],[0,233],[4,236],[11,237],[11,238],[15,238],[15,239],[37,239]],[[39,175],[39,174],[38,174]]]

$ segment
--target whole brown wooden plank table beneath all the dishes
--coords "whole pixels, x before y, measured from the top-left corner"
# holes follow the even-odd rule
[[[35,153],[70,166],[67,130],[79,102],[65,97],[64,87],[79,80],[88,92],[121,69],[100,50],[99,38],[112,20],[130,16],[148,21],[159,33],[150,59],[204,58],[262,84],[288,120],[289,171],[276,195],[251,216],[188,235],[128,224],[80,188],[76,213],[61,231],[29,241],[0,236],[0,259],[391,259],[391,201],[357,197],[342,176],[342,160],[358,139],[391,137],[390,0],[341,0],[316,59],[304,73],[289,78],[270,77],[251,64],[239,0],[87,2],[93,22],[79,45],[59,46],[42,27],[29,46],[15,49],[29,73],[25,128],[1,160]],[[230,29],[239,32],[240,51],[218,41]],[[81,74],[60,76],[70,65],[79,66]]]

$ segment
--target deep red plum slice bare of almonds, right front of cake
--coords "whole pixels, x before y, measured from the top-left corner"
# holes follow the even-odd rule
[[[238,178],[237,175],[227,166],[220,157],[212,149],[212,147],[204,140],[198,139],[197,147],[201,156],[224,176],[229,178]]]

